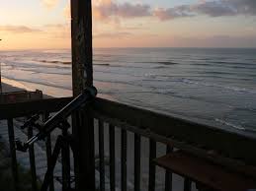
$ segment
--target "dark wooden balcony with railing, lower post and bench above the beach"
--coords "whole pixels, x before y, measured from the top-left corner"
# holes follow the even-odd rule
[[[7,124],[16,190],[19,190],[22,178],[18,175],[17,156],[22,152],[16,151],[15,140],[21,137],[15,134],[17,127],[14,124],[35,113],[40,114],[42,121],[48,120],[48,116],[71,100],[72,97],[66,97],[1,105],[1,128]],[[256,156],[253,153],[256,139],[253,137],[103,98],[95,98],[85,106],[73,109],[70,115],[75,126],[52,131],[41,141],[44,157],[37,155],[35,148],[38,146],[29,147],[27,158],[33,190],[40,190],[38,182],[43,182],[46,168],[52,165],[50,159],[55,155],[52,148],[56,137],[68,133],[77,141],[70,148],[62,142],[61,158],[57,158],[60,170],[46,176],[50,190],[255,188]],[[71,122],[69,116],[65,119]],[[79,135],[76,134],[77,127],[82,130]],[[43,129],[29,125],[26,135],[30,139],[39,131]],[[46,161],[44,166],[39,166],[41,159]],[[230,184],[233,180],[235,182]]]

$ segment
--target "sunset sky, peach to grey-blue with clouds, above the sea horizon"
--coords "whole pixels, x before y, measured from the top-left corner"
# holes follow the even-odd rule
[[[256,0],[92,0],[94,47],[256,47]],[[70,48],[69,0],[0,0],[0,50]]]

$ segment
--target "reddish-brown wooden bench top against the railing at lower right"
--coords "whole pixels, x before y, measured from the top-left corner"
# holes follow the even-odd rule
[[[228,171],[206,159],[200,159],[182,151],[173,152],[154,162],[166,170],[190,178],[200,190],[251,191],[256,190],[256,180]],[[207,189],[206,189],[207,188]]]

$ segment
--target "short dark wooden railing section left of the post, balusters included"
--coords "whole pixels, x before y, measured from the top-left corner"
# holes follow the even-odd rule
[[[15,136],[14,130],[14,120],[19,117],[28,117],[32,116],[35,113],[41,113],[42,118],[46,119],[48,115],[52,112],[56,112],[65,106],[72,98],[51,98],[51,99],[41,99],[41,100],[33,100],[29,102],[17,102],[17,103],[9,103],[9,104],[1,104],[0,105],[0,120],[7,121],[8,126],[8,135],[9,135],[9,148],[12,159],[12,174],[13,180],[15,184],[15,189],[20,190],[20,179],[18,172],[18,162],[17,162],[17,154],[16,154],[16,146],[15,140],[19,139],[19,137]],[[3,127],[0,127],[3,128]],[[18,127],[20,128],[20,127]],[[28,129],[28,139],[33,136],[34,129],[29,127]],[[25,141],[25,140],[24,140]],[[51,138],[48,136],[45,139],[45,153],[47,161],[51,156]],[[29,150],[30,157],[30,171],[32,175],[32,189],[34,191],[39,190],[38,188],[38,178],[36,173],[36,161],[35,161],[35,151],[34,148],[30,148]],[[48,162],[47,162],[48,163]],[[53,182],[53,180],[52,180]],[[53,186],[51,185],[51,189],[53,190]]]

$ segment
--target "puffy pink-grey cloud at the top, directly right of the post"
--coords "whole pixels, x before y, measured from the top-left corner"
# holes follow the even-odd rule
[[[146,4],[116,3],[113,0],[102,0],[93,6],[93,15],[96,20],[110,20],[113,17],[137,18],[150,16],[150,6]]]

